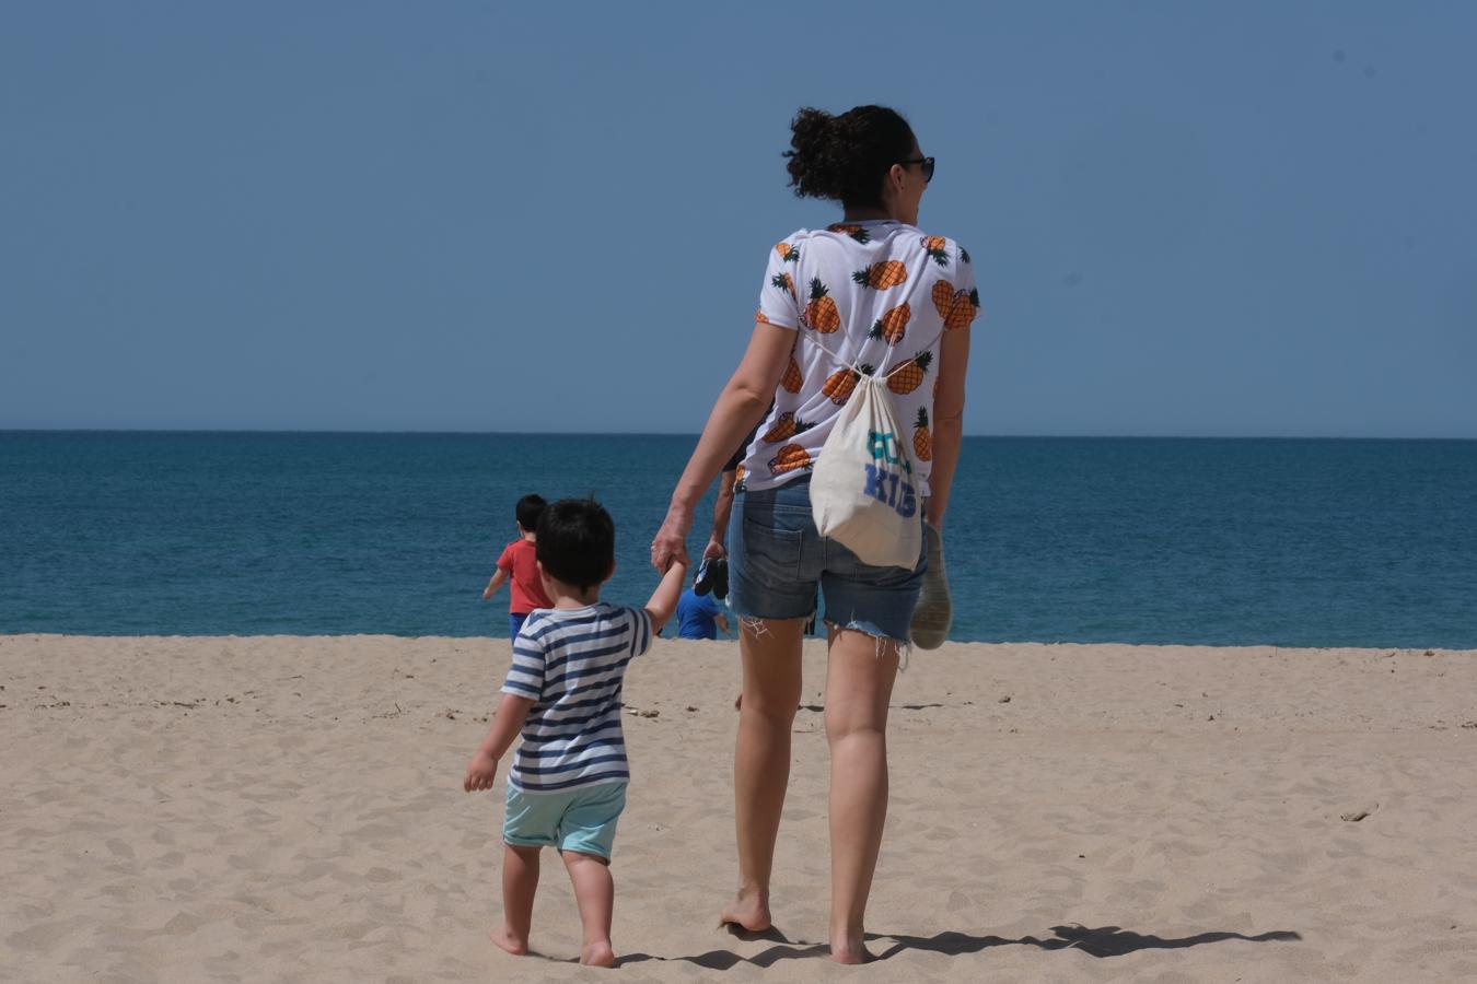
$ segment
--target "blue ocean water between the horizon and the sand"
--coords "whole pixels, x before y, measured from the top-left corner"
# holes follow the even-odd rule
[[[0,432],[0,631],[507,634],[480,593],[526,491],[601,499],[640,603],[691,447]],[[953,637],[1477,648],[1474,518],[1477,441],[966,438]]]

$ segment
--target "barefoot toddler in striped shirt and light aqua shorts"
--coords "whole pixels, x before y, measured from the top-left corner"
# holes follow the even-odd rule
[[[672,617],[687,568],[674,564],[645,608],[600,600],[616,569],[616,527],[592,499],[545,507],[535,544],[554,606],[530,612],[514,639],[496,716],[462,780],[467,792],[492,789],[498,760],[521,736],[502,823],[504,922],[489,935],[508,953],[529,952],[539,851],[552,847],[579,904],[579,962],[611,966],[610,851],[631,777],[620,685]]]

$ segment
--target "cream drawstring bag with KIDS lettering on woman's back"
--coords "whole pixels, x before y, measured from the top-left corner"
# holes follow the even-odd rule
[[[863,564],[911,571],[923,550],[923,503],[913,485],[910,441],[898,426],[886,376],[877,378],[870,366],[852,366],[851,373],[855,388],[811,472],[815,528]]]

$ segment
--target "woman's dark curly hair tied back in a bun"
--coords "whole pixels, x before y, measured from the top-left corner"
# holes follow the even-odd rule
[[[880,205],[888,168],[917,145],[908,121],[886,106],[857,106],[839,117],[806,106],[790,131],[795,149],[784,156],[795,193],[845,207]]]

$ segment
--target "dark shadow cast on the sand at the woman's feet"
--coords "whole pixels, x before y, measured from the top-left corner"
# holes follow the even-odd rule
[[[641,963],[644,960],[663,960],[696,963],[697,966],[705,966],[712,971],[727,971],[740,963],[747,963],[750,966],[772,966],[780,960],[823,957],[830,953],[830,947],[824,943],[789,940],[778,929],[770,929],[768,932],[759,934],[731,932],[733,935],[747,941],[768,941],[775,946],[761,950],[753,956],[740,956],[733,950],[707,950],[706,953],[699,953],[696,956],[675,957],[653,956],[650,953],[631,953],[617,959],[616,966]],[[1006,937],[975,937],[967,932],[956,931],[945,931],[932,937],[910,937],[898,932],[868,932],[867,940],[873,943],[871,949],[876,952],[877,959],[886,960],[905,950],[925,950],[929,953],[942,953],[945,956],[962,956],[964,953],[979,953],[981,950],[988,950],[990,947],[1029,946],[1040,950],[1081,950],[1083,953],[1094,957],[1111,957],[1124,956],[1125,953],[1134,953],[1137,950],[1183,950],[1185,947],[1198,947],[1205,943],[1220,943],[1223,940],[1244,940],[1247,943],[1286,943],[1303,938],[1300,934],[1286,929],[1261,932],[1254,937],[1248,937],[1241,932],[1199,932],[1193,937],[1171,938],[1133,932],[1131,929],[1123,929],[1121,926],[1099,926],[1096,929],[1089,926],[1052,926],[1052,932],[1056,935],[1046,940],[1038,940],[1035,937],[1019,937],[1016,940]],[[879,944],[891,946],[879,949]]]

